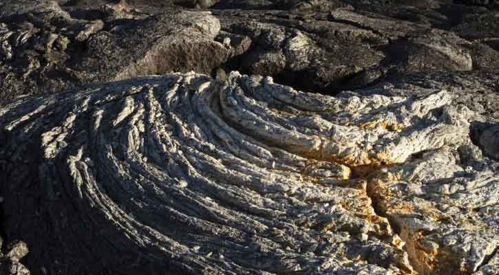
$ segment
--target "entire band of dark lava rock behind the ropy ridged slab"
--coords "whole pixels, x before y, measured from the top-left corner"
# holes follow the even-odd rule
[[[452,1],[10,2],[0,1],[0,104],[190,70],[335,94],[407,73],[499,68],[496,11]]]

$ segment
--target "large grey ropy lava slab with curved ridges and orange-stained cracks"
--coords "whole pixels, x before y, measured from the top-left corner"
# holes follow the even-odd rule
[[[19,100],[0,109],[6,236],[36,274],[493,271],[499,164],[452,100],[237,72]]]

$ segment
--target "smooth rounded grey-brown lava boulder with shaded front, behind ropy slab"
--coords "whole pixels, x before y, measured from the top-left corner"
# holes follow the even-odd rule
[[[95,34],[70,67],[92,82],[172,71],[211,74],[228,56],[213,40],[218,32],[220,23],[209,13],[161,13]]]

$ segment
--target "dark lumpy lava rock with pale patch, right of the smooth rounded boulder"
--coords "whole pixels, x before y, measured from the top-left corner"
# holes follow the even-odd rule
[[[384,58],[383,52],[363,43],[379,37],[342,23],[249,21],[232,23],[226,31],[253,41],[251,49],[240,57],[244,72],[275,76],[279,82],[308,91],[331,89],[330,85]]]

